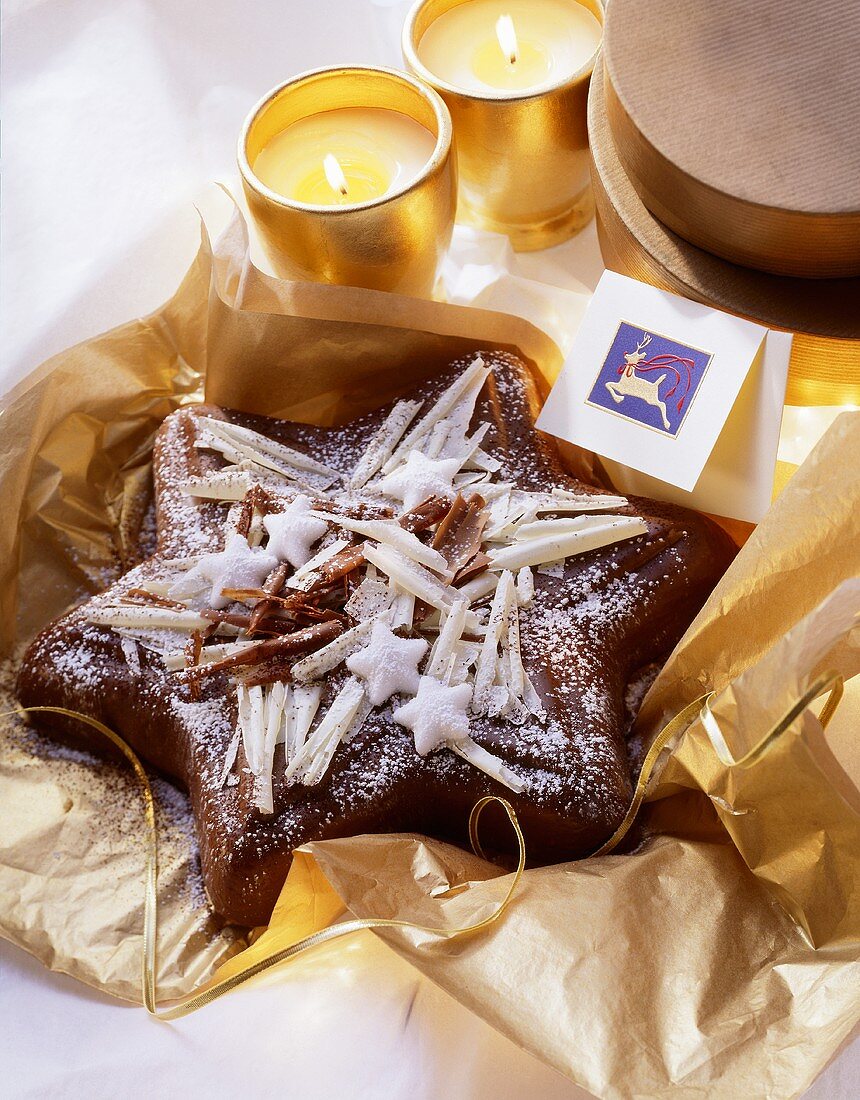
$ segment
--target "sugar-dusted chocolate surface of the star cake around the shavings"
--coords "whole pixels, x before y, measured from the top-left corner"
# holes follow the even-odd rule
[[[515,491],[543,497],[553,490],[583,499],[600,496],[599,491],[570,477],[551,444],[533,431],[537,396],[518,361],[494,354],[492,363],[493,375],[477,399],[471,424],[470,464],[460,473],[452,473],[452,479],[460,477],[463,484],[476,486],[477,493],[485,484],[501,486],[493,513],[493,521],[498,520],[501,526],[510,515]],[[433,407],[451,380],[467,365],[454,364],[450,373],[421,387],[423,405],[412,425],[422,422],[427,409]],[[212,408],[202,411],[209,417],[234,419],[255,432],[271,432],[272,438],[285,446],[306,451],[340,474],[340,499],[356,508],[378,508],[382,477],[374,473],[366,485],[351,485],[350,475],[387,410],[331,430],[262,421]],[[148,586],[148,591],[161,592],[170,574],[166,559],[223,548],[227,517],[231,508],[236,515],[236,502],[199,499],[179,487],[189,479],[206,479],[228,464],[222,454],[194,446],[195,419],[199,415],[194,408],[174,414],[159,437],[156,558],[133,570],[92,606],[107,606],[134,587]],[[448,426],[444,418],[438,420],[423,440],[418,440],[434,454],[431,461],[448,461],[444,455],[453,447],[455,429],[463,427],[455,424],[455,417],[450,420]],[[406,417],[399,420],[395,417],[389,422],[400,430],[400,421],[406,425]],[[487,427],[476,437],[482,425]],[[414,429],[404,427],[404,430]],[[390,451],[389,444],[390,439],[384,447],[379,444],[379,453]],[[392,451],[393,455],[396,453]],[[377,459],[378,453],[376,458],[372,455],[366,469]],[[390,463],[392,455],[385,461]],[[267,484],[267,491],[275,494],[275,512],[287,507],[299,493],[293,485],[273,488],[273,483]],[[501,503],[496,505],[496,502]],[[636,508],[626,502],[611,507],[611,501],[604,501],[599,507],[613,516],[636,515]],[[560,513],[567,514],[565,509]],[[660,542],[670,529],[674,542]],[[647,516],[642,534],[581,558],[566,559],[563,566],[553,571],[554,575],[538,572],[533,576],[533,600],[525,579],[514,590],[511,606],[518,615],[522,672],[529,684],[533,684],[545,716],[523,711],[518,712],[514,722],[493,704],[483,714],[471,714],[470,736],[477,747],[523,778],[527,793],[519,804],[521,816],[533,829],[532,835],[543,837],[541,843],[549,848],[556,845],[564,851],[575,850],[577,845],[596,846],[595,842],[626,809],[630,778],[621,736],[628,717],[625,688],[632,670],[662,653],[674,640],[677,627],[671,616],[668,619],[661,614],[661,606],[666,605],[670,596],[675,601],[673,607],[684,606],[681,597],[672,595],[685,596],[688,583],[687,556],[680,551],[684,538],[686,531],[676,530],[669,520],[659,515]],[[377,553],[377,558],[382,562],[385,554]],[[418,566],[412,562],[410,568]],[[386,581],[385,578],[371,581],[365,593],[372,593],[375,608],[382,603]],[[520,602],[517,594],[526,593],[529,600],[523,595]],[[352,606],[356,612],[363,598],[355,597]],[[473,598],[477,601],[481,596]],[[442,604],[441,610],[444,619],[451,613],[450,603]],[[475,647],[479,645],[486,614],[475,616],[470,612],[470,615],[473,618],[462,645]],[[432,630],[439,626],[433,627],[432,615],[426,622],[423,629],[432,638]],[[470,629],[476,630],[477,636],[470,637]],[[498,790],[474,766],[448,750],[430,752],[421,759],[410,732],[393,721],[394,712],[408,702],[408,695],[394,695],[364,715],[357,732],[343,737],[328,771],[313,787],[287,783],[285,748],[276,745],[272,763],[273,812],[261,815],[254,805],[253,783],[242,751],[230,781],[223,782],[223,762],[236,725],[234,690],[227,675],[218,672],[206,678],[199,697],[194,697],[189,682],[169,673],[158,656],[162,646],[162,652],[176,651],[176,638],[162,637],[169,634],[150,631],[145,638],[133,636],[134,644],[140,642],[137,652],[143,666],[142,674],[135,675],[125,659],[128,638],[88,623],[86,608],[78,610],[36,640],[29,657],[27,693],[41,693],[42,697],[62,700],[69,706],[113,716],[121,729],[123,714],[128,716],[129,736],[143,739],[147,755],[158,767],[186,778],[202,824],[205,865],[228,867],[229,873],[236,876],[236,882],[241,880],[241,890],[239,887],[236,890],[246,899],[239,904],[242,912],[256,912],[255,891],[271,897],[269,878],[282,876],[290,849],[308,838],[389,827],[449,834],[452,816],[462,826],[463,807],[467,810],[467,804],[479,793]],[[517,637],[510,636],[515,647]],[[212,639],[213,644],[223,640],[223,637]],[[468,650],[465,652],[467,657]],[[496,654],[500,671],[490,683],[493,691],[507,690],[505,684],[514,683],[519,675],[516,664],[505,653],[500,647]],[[342,664],[327,673],[316,728],[344,682]],[[286,736],[284,732],[282,736]],[[529,826],[532,810],[533,824]],[[548,833],[543,823],[549,822],[553,824]],[[233,867],[235,871],[231,870]],[[275,872],[273,867],[282,870]]]

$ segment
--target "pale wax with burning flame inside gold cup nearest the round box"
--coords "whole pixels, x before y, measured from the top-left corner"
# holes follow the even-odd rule
[[[471,0],[427,29],[418,56],[467,91],[539,91],[587,65],[600,33],[595,15],[570,0]]]

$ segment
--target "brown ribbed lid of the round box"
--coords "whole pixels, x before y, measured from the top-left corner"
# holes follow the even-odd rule
[[[860,275],[857,0],[613,0],[606,111],[648,209],[732,263]]]

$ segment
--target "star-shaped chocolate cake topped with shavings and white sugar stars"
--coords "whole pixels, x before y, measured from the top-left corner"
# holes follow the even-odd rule
[[[19,696],[100,719],[188,789],[224,917],[264,923],[308,840],[463,842],[487,793],[532,862],[622,818],[629,686],[734,547],[571,477],[538,406],[494,353],[342,428],[165,421],[154,557],[36,637]],[[500,814],[486,828],[509,844]]]

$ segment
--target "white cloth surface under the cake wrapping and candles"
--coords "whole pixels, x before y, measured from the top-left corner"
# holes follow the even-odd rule
[[[398,65],[407,8],[7,0],[0,393],[48,355],[164,300],[197,248],[194,205],[216,223],[223,217],[206,185],[233,184],[249,106],[302,69]],[[564,343],[586,300],[582,284],[593,287],[600,271],[594,227],[516,260],[503,240],[459,231],[445,286],[454,300],[541,320]],[[335,977],[328,950],[342,952]],[[0,1019],[9,1097],[586,1096],[368,933],[175,1024],[0,943]],[[858,1090],[856,1044],[807,1097]]]

